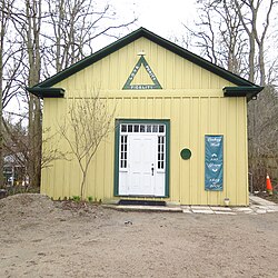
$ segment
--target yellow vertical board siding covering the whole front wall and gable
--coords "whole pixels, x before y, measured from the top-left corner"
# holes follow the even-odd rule
[[[162,90],[122,90],[139,51],[155,72]],[[137,77],[146,81],[146,76]],[[221,88],[230,82],[167,51],[145,38],[80,70],[59,82],[64,99],[46,99],[43,127],[56,127],[63,119],[66,106],[73,97],[91,97],[92,89],[107,98],[109,109],[116,107],[117,119],[170,120],[170,197],[185,205],[247,205],[247,141],[245,98],[224,98]],[[205,135],[224,135],[224,191],[205,190]],[[58,140],[58,138],[57,138]],[[58,143],[68,150],[67,142]],[[180,158],[189,148],[189,160]],[[101,142],[87,178],[86,196],[97,200],[113,196],[115,133]],[[53,161],[42,170],[41,190],[54,199],[79,195],[81,172],[77,161]]]

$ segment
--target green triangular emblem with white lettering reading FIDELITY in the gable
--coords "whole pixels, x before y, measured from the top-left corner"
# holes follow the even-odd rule
[[[135,66],[133,70],[131,71],[131,73],[129,75],[127,82],[122,87],[122,90],[152,90],[152,89],[162,89],[162,87],[159,83],[156,75],[151,70],[151,68],[148,64],[148,62],[146,61],[143,54],[140,54],[140,56],[141,56],[140,59],[138,60],[137,64]],[[133,85],[132,83],[133,78],[137,75],[138,70],[141,68],[141,66],[143,66],[145,70],[149,75],[152,83],[150,83],[150,85],[140,85],[140,83],[139,85]]]

